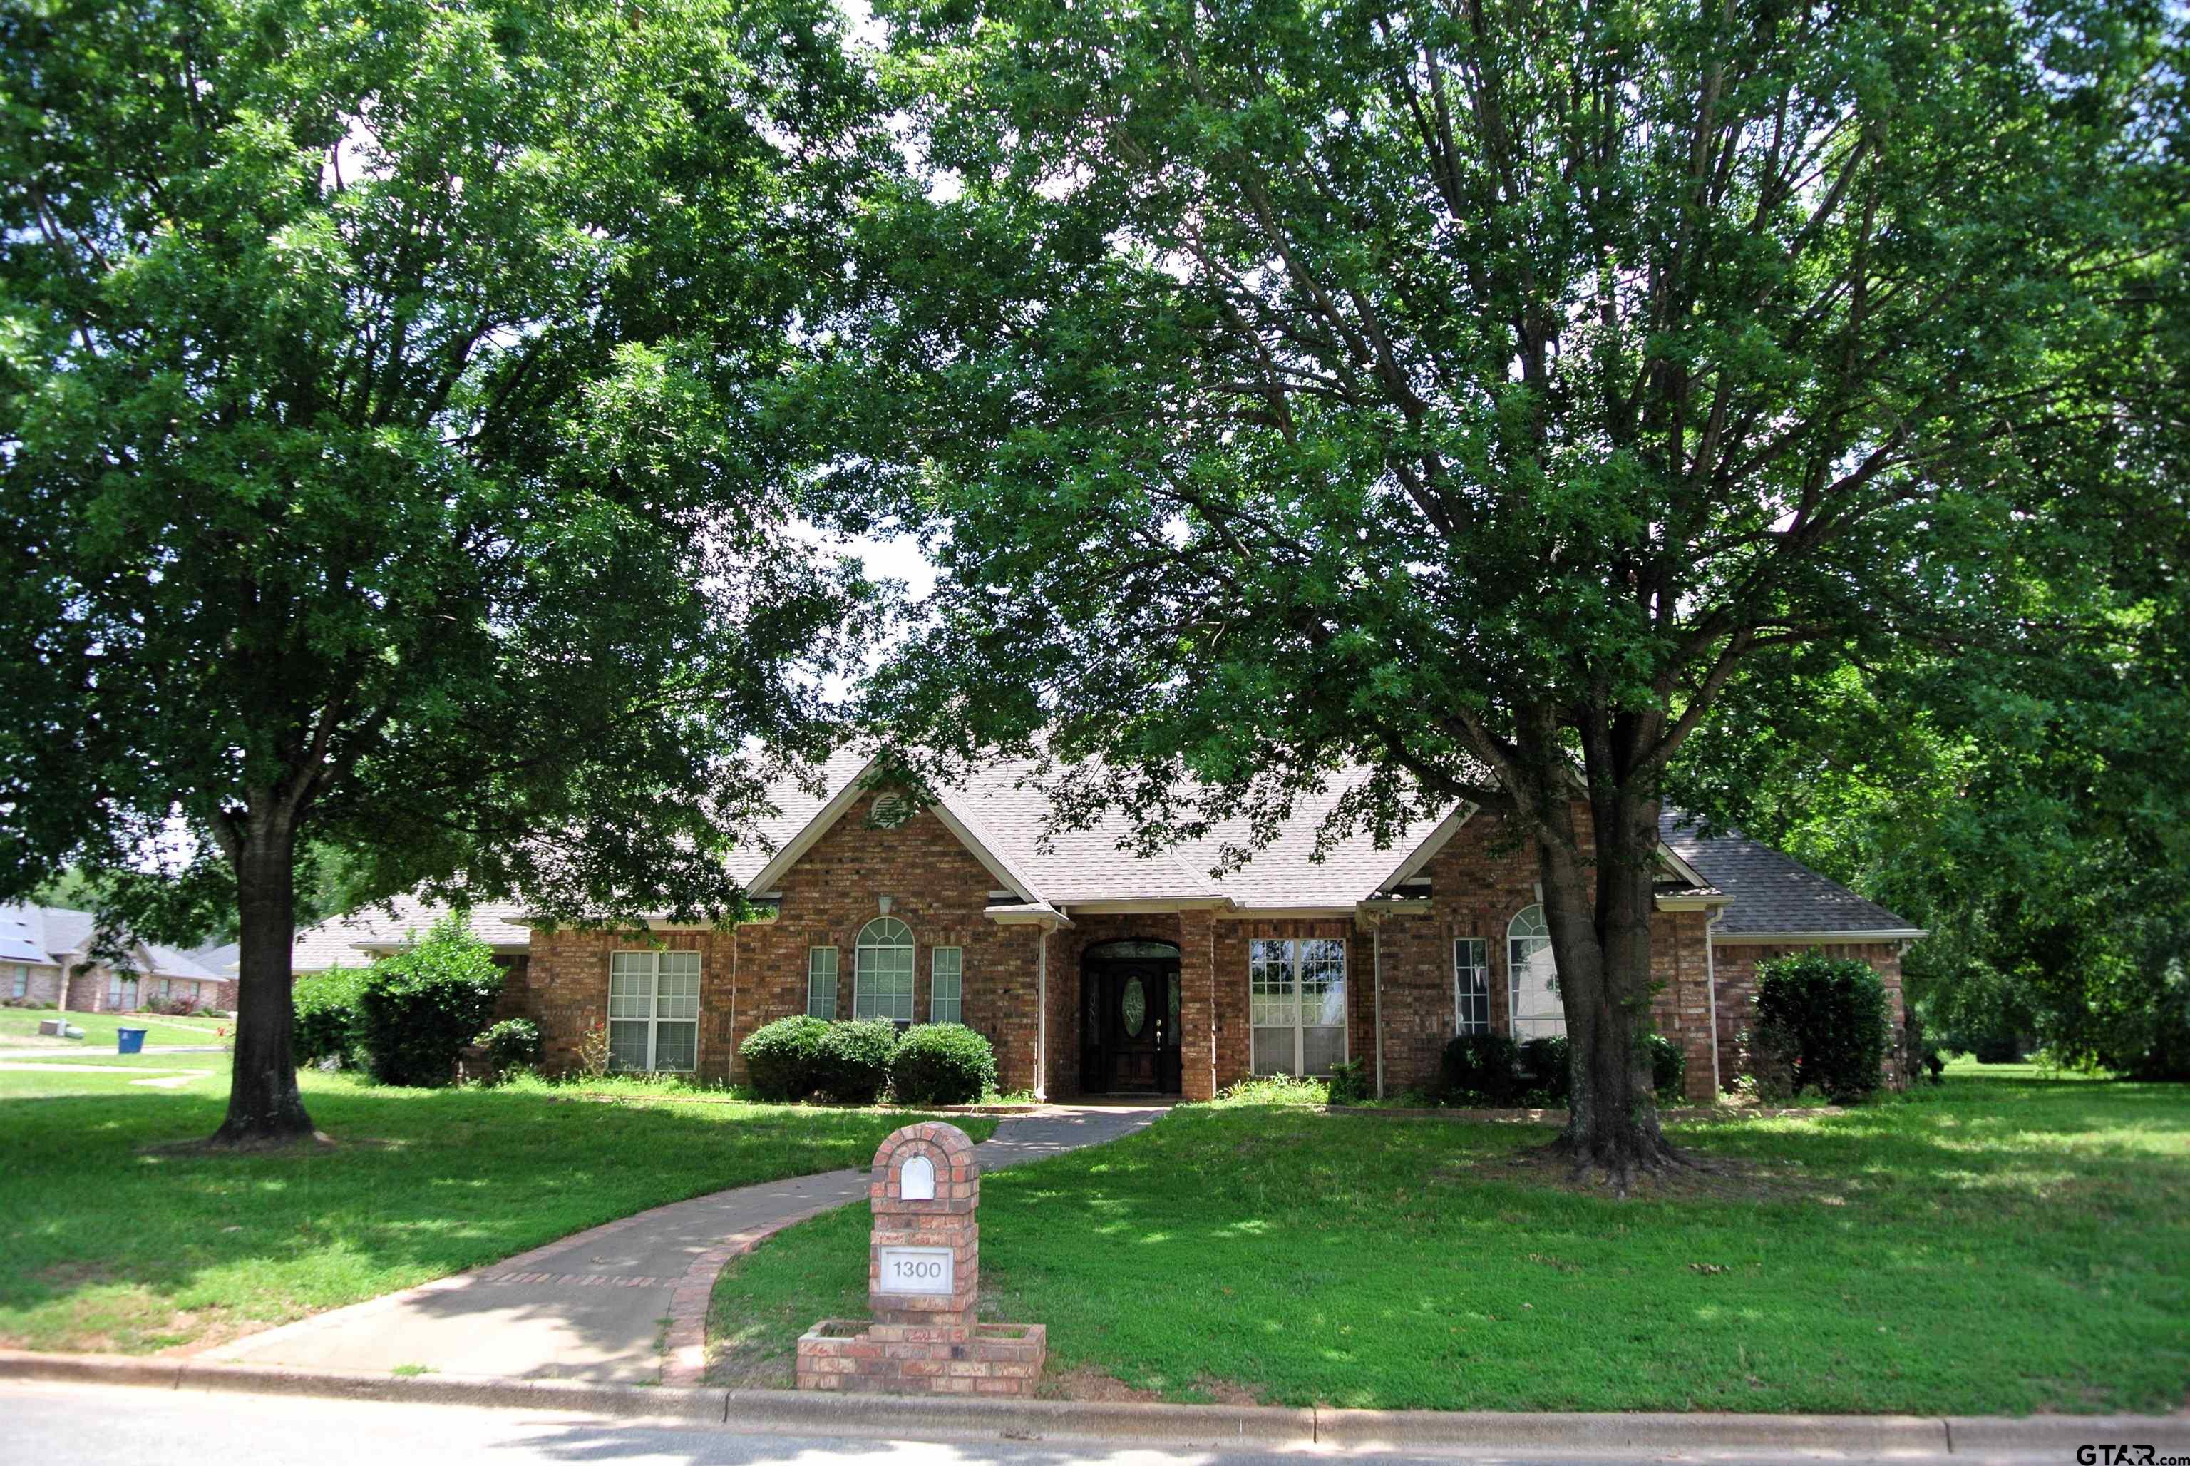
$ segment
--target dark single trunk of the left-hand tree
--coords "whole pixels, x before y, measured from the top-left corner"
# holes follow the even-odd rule
[[[296,1089],[296,997],[289,947],[296,940],[296,831],[278,817],[250,820],[234,846],[241,960],[237,971],[237,1058],[228,1118],[215,1146],[283,1146],[313,1135]]]

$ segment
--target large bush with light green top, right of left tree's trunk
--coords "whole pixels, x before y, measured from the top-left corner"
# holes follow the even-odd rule
[[[456,1058],[495,1015],[502,969],[462,912],[442,916],[410,951],[366,969],[357,1036],[381,1085],[447,1085]]]

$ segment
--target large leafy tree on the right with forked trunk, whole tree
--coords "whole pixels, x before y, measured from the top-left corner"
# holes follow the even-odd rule
[[[1367,765],[1540,846],[1564,1146],[1671,1157],[1660,780],[1745,662],[1975,600],[2179,230],[2157,7],[894,0],[845,473],[929,532],[878,706],[1163,844]],[[2048,489],[2050,491],[2050,489]],[[1951,594],[1949,594],[1951,592]],[[1264,824],[1266,828],[1266,824]]]

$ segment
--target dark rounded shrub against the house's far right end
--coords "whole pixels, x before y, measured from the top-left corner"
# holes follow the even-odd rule
[[[1890,1012],[1886,982],[1868,962],[1822,951],[1759,962],[1752,1061],[1785,1069],[1759,1069],[1759,1093],[1783,1080],[1789,1093],[1816,1089],[1835,1104],[1868,1098],[1886,1078]]]

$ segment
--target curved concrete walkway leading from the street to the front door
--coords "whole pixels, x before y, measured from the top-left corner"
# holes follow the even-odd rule
[[[1145,1129],[1163,1109],[1051,1104],[975,1146],[983,1170]],[[830,1207],[865,1201],[865,1170],[740,1186],[639,1212],[491,1267],[374,1297],[206,1352],[300,1370],[699,1383],[707,1293],[723,1262]]]

